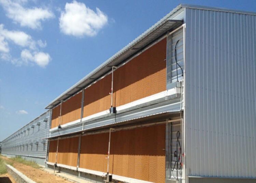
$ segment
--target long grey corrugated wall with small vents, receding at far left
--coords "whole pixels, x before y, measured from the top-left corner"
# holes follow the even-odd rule
[[[50,111],[31,121],[2,141],[2,154],[45,158]]]

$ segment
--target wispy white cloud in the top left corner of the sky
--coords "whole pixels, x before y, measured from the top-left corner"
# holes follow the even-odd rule
[[[23,0],[14,2],[11,0],[0,0],[0,3],[6,11],[6,16],[23,27],[41,29],[41,21],[54,17],[54,14],[46,8],[33,7],[29,9],[23,7],[21,4],[25,2],[27,1]]]

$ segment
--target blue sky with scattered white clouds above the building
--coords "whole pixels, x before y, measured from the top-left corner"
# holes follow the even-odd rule
[[[0,141],[180,3],[256,12],[255,0],[0,0]]]

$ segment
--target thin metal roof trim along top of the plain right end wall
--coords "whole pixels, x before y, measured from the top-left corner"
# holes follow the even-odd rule
[[[241,14],[256,15],[256,12],[250,12],[250,11],[244,11],[244,10],[227,9],[227,8],[222,8],[222,7],[201,6],[201,5],[183,4],[183,3],[180,4],[180,6],[184,7],[184,8],[191,8],[191,9],[222,11],[222,12],[229,12],[229,13],[241,13]]]

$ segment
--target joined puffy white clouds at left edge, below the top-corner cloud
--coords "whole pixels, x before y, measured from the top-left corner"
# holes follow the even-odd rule
[[[8,42],[13,42],[22,48],[29,49],[23,49],[20,53],[20,59],[14,59],[10,54]],[[51,57],[48,53],[39,51],[37,45],[43,48],[46,47],[47,43],[42,40],[34,41],[30,35],[22,31],[10,31],[4,29],[4,26],[0,24],[0,58],[2,60],[10,61],[17,66],[36,63],[40,67],[45,67],[48,65]]]

